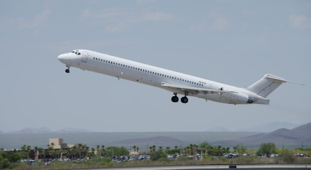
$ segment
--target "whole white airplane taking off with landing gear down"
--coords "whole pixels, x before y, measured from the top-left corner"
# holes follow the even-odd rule
[[[152,85],[173,92],[172,102],[178,102],[177,94],[183,95],[182,103],[188,102],[187,96],[194,96],[229,104],[269,104],[266,97],[282,83],[290,82],[266,74],[253,85],[241,88],[89,50],[64,53],[58,60],[68,68],[66,73],[70,67],[75,67]]]

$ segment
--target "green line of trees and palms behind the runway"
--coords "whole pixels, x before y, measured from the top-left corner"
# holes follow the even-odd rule
[[[97,145],[96,148],[89,148],[85,144],[77,144],[69,148],[66,143],[61,145],[60,149],[55,149],[54,143],[47,145],[47,149],[34,147],[33,149],[29,145],[23,145],[20,150],[5,151],[0,150],[0,169],[8,168],[10,163],[17,162],[21,159],[35,159],[37,155],[38,159],[58,159],[62,157],[67,157],[70,159],[84,159],[86,157],[92,158],[109,158],[112,156],[129,156],[129,151],[125,147],[116,147],[109,146],[105,147],[104,145]],[[132,151],[139,152],[137,146],[132,147]],[[309,149],[310,150],[310,149]],[[306,150],[306,151],[309,151]],[[162,146],[156,147],[155,145],[149,147],[150,159],[153,161],[159,159],[167,159],[167,155],[196,155],[202,154],[203,157],[206,156],[222,156],[227,153],[239,153],[244,154],[248,153],[248,150],[245,146],[236,145],[232,148],[222,147],[222,146],[211,146],[208,142],[202,142],[199,145],[190,144],[184,148],[175,146],[171,147]],[[276,148],[274,143],[262,143],[259,146],[257,154],[271,156],[273,153],[279,153],[283,155],[284,162],[294,162],[294,154],[292,151],[287,149],[279,150]],[[110,160],[110,159],[109,159]]]

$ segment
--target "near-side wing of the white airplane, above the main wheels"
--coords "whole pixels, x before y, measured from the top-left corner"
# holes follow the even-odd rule
[[[173,85],[168,83],[162,83],[161,86],[164,86],[167,89],[173,89],[178,91],[183,91],[185,93],[191,93],[191,94],[207,94],[207,93],[238,93],[235,91],[226,91],[226,90],[213,90],[213,89],[207,89],[207,88],[198,88],[198,87],[190,87],[190,86],[183,86],[183,85]]]

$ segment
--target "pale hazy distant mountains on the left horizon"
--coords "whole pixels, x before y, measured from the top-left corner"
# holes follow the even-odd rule
[[[93,132],[87,129],[81,128],[64,128],[58,131],[52,131],[50,128],[47,127],[40,127],[40,128],[33,128],[33,127],[25,127],[19,131],[12,131],[4,133],[0,131],[0,134],[42,134],[42,133],[79,133],[79,132]]]

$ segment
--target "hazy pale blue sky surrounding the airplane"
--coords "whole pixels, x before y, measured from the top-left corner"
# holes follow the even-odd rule
[[[71,68],[88,49],[209,80],[283,84],[270,105],[229,105]],[[0,130],[236,130],[311,121],[310,0],[0,0]]]

